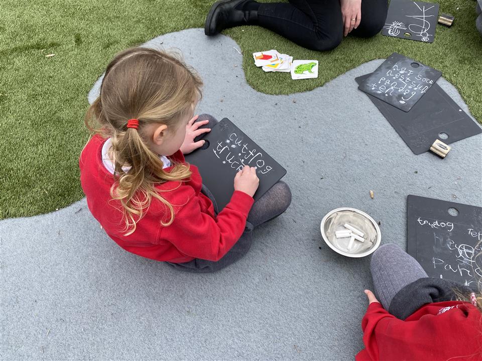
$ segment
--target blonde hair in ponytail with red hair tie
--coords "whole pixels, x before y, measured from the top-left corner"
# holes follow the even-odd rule
[[[110,195],[122,205],[126,236],[136,230],[153,198],[170,214],[161,224],[169,226],[174,221],[173,206],[155,185],[181,182],[191,171],[180,163],[164,171],[162,160],[147,145],[143,127],[151,123],[176,127],[201,96],[201,86],[200,77],[179,56],[155,49],[127,49],[107,66],[100,95],[89,107],[85,124],[90,131],[112,138],[115,182]],[[138,129],[127,127],[132,118],[139,120]],[[123,166],[130,169],[124,171]]]

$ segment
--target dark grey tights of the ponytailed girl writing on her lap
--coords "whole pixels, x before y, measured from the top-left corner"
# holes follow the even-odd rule
[[[201,128],[212,128],[218,121],[208,114],[201,114],[196,121],[209,120],[209,123],[201,126]],[[200,137],[194,139],[198,141]],[[216,201],[212,197],[211,192],[203,185],[202,192],[211,200],[214,205],[216,214],[218,213]],[[253,229],[259,225],[266,223],[285,212],[291,204],[291,191],[288,185],[284,182],[278,182],[268,192],[266,192],[259,200],[257,200],[246,222],[246,228],[243,235],[234,244],[234,246],[227,252],[219,261],[207,261],[195,258],[192,261],[185,263],[171,263],[171,266],[187,272],[208,273],[218,271],[237,260],[243,258],[251,248],[253,242]]]

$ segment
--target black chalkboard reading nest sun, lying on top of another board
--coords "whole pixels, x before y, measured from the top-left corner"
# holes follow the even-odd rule
[[[358,88],[408,112],[441,75],[438,70],[393,53]]]

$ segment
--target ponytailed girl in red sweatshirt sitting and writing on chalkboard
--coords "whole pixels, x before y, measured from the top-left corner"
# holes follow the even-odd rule
[[[193,116],[201,85],[173,55],[147,48],[119,53],[87,112],[87,127],[92,131],[93,121],[100,129],[79,165],[89,210],[119,246],[182,270],[212,272],[248,252],[253,228],[283,213],[291,192],[279,182],[254,203],[259,179],[246,166],[217,213],[197,167],[183,156],[204,143],[198,138],[216,122]]]

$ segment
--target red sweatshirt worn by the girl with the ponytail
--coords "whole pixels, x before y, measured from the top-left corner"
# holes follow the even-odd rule
[[[212,202],[201,193],[202,179],[195,165],[190,165],[190,179],[166,182],[156,186],[161,196],[174,207],[174,221],[166,206],[153,198],[145,216],[137,222],[134,233],[125,236],[120,202],[110,197],[113,175],[102,163],[105,138],[93,136],[79,159],[80,183],[87,205],[107,235],[126,251],[157,261],[182,263],[194,258],[217,261],[243,234],[254,200],[244,192],[234,191],[231,201],[214,215]],[[171,157],[172,163],[184,162],[181,151]],[[172,167],[165,168],[169,171]],[[232,181],[232,180],[231,180]]]

